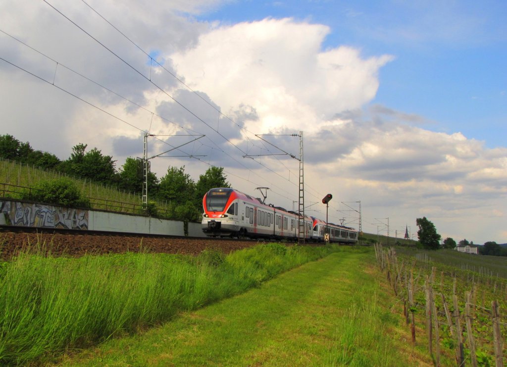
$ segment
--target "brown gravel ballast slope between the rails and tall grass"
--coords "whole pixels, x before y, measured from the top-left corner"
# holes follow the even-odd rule
[[[43,244],[53,255],[82,256],[86,253],[165,252],[198,254],[206,248],[225,253],[258,244],[255,241],[216,241],[206,238],[153,238],[136,236],[68,235],[0,232],[0,259],[9,260],[21,248]]]

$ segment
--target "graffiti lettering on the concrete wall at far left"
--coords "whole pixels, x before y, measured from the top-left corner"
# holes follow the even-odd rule
[[[11,226],[88,229],[88,210],[0,200],[0,213]]]

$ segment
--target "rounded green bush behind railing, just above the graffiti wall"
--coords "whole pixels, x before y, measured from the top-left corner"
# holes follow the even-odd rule
[[[21,198],[54,205],[90,207],[90,200],[83,197],[76,184],[68,178],[41,181],[34,190],[24,191]]]

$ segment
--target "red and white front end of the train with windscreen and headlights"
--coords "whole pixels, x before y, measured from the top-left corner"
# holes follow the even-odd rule
[[[237,198],[233,189],[209,190],[202,199],[202,231],[208,236],[236,235],[239,231]]]

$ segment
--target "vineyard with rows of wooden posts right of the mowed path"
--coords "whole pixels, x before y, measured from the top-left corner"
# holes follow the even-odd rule
[[[375,252],[403,305],[412,344],[426,343],[435,365],[440,365],[442,355],[453,357],[457,365],[503,365],[507,259],[494,259],[497,263],[488,261],[486,266],[484,256],[385,249],[379,244]]]

